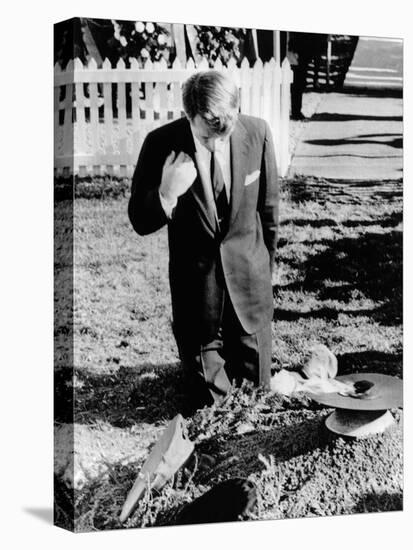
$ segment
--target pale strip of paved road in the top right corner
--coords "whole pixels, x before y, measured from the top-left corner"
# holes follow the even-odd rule
[[[344,81],[346,88],[401,89],[403,40],[361,36]]]

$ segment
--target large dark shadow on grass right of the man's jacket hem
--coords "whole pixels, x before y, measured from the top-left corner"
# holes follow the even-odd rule
[[[390,216],[389,223],[397,217]],[[309,256],[304,262],[283,259],[303,274],[301,282],[280,287],[282,290],[317,292],[322,300],[348,303],[359,299],[359,309],[320,307],[310,311],[276,309],[275,320],[300,318],[337,319],[340,313],[370,316],[386,325],[402,323],[402,232],[369,232],[357,238],[337,241],[321,240],[327,250]],[[277,288],[274,288],[277,292]],[[363,307],[363,299],[376,302],[374,308]]]

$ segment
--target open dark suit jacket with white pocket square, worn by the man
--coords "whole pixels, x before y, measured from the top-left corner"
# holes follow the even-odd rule
[[[271,271],[277,242],[279,187],[272,136],[266,122],[239,115],[231,135],[229,228],[218,231],[210,183],[200,171],[188,121],[148,134],[133,176],[129,217],[140,235],[168,223],[169,279],[177,339],[207,342],[222,313],[222,288],[245,332],[273,314]],[[190,155],[198,176],[178,199],[169,220],[159,199],[166,157]]]

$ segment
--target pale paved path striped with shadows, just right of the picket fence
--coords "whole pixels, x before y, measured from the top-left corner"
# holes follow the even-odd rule
[[[401,178],[402,124],[401,98],[325,94],[304,123],[289,176]]]

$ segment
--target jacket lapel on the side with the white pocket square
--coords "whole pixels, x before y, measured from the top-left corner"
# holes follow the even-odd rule
[[[231,200],[229,225],[237,215],[244,193],[244,181],[247,173],[248,134],[240,122],[237,121],[230,138],[231,143]]]

